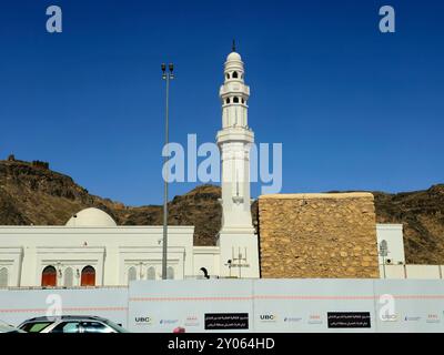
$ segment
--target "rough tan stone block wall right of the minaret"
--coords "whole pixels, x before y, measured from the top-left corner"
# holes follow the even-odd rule
[[[371,193],[259,199],[261,277],[380,277]]]

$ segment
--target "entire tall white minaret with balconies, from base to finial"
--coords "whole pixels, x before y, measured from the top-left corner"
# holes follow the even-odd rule
[[[250,148],[254,142],[254,133],[248,125],[250,87],[244,83],[243,62],[234,42],[226,57],[219,95],[222,103],[222,130],[216,136],[222,160],[221,274],[259,277],[258,236],[250,197]]]

